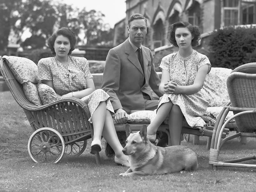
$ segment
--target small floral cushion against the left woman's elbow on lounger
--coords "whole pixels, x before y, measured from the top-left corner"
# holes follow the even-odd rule
[[[58,100],[56,92],[46,84],[38,82],[37,90],[43,105]]]

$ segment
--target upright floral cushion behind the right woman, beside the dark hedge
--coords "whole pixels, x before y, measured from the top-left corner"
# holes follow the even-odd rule
[[[232,72],[228,68],[212,68],[206,76],[202,93],[209,101],[208,107],[221,107],[229,102],[227,78]]]

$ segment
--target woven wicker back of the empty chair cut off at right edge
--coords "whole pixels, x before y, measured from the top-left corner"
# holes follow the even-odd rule
[[[246,68],[245,72],[252,71],[256,63],[248,63],[239,67]],[[228,94],[232,107],[256,108],[256,74],[236,72],[234,69],[227,79]],[[238,112],[234,112],[236,114]],[[241,132],[252,132],[256,130],[256,114],[244,114],[235,118],[237,129]]]

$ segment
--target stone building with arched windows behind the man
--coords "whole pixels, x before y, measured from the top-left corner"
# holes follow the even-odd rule
[[[141,13],[148,20],[144,45],[152,50],[168,45],[169,26],[185,20],[201,28],[202,33],[229,25],[256,23],[256,0],[126,0],[126,18],[115,25],[114,45],[125,33],[128,19]]]

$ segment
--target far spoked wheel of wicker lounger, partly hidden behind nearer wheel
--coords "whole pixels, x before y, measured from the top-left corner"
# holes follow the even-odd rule
[[[65,154],[79,156],[84,152],[86,146],[87,146],[87,140],[70,143],[65,147]]]

